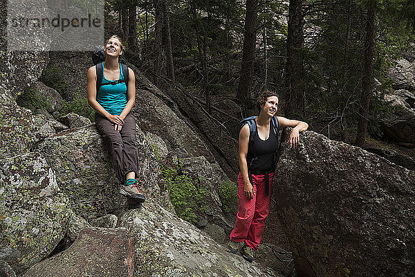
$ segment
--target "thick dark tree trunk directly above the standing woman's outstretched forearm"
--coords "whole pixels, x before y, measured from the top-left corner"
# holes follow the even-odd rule
[[[301,50],[304,46],[304,0],[290,0],[288,11],[288,39],[286,62],[285,115],[304,116],[306,94],[304,65]]]

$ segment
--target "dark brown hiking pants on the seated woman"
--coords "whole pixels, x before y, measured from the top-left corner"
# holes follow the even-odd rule
[[[95,113],[95,125],[102,139],[111,146],[111,160],[116,177],[125,184],[125,175],[136,172],[138,176],[138,154],[136,148],[136,120],[132,112],[124,118],[121,131],[114,130],[114,125],[104,116]]]

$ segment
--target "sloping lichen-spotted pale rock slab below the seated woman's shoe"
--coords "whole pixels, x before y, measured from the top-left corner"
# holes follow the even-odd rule
[[[279,276],[246,262],[154,202],[120,219],[136,236],[136,276]]]

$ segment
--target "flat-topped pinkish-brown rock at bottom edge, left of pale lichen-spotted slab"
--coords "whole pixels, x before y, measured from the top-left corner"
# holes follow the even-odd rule
[[[39,262],[24,277],[133,277],[134,243],[125,229],[84,229],[71,247]]]

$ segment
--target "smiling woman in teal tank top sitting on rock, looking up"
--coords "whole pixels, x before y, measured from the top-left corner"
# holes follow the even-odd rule
[[[124,51],[121,39],[113,35],[105,44],[101,86],[97,91],[97,66],[91,66],[86,77],[89,105],[95,110],[95,125],[111,145],[111,160],[120,181],[120,193],[138,203],[145,196],[138,190],[138,153],[136,120],[131,112],[136,101],[135,75],[128,69],[128,86],[124,80],[119,57]],[[116,82],[114,82],[116,81]],[[127,89],[128,88],[128,89]]]

